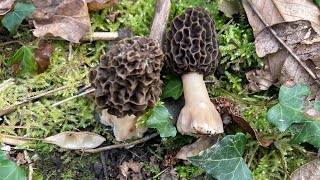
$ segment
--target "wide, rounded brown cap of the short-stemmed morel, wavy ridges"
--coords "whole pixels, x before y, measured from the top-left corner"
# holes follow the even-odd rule
[[[117,117],[141,115],[155,106],[161,94],[163,52],[153,39],[119,41],[89,73],[95,102]]]

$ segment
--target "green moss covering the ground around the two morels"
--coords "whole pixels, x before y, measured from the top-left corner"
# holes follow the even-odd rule
[[[122,0],[115,7],[97,13],[92,12],[90,16],[93,30],[117,31],[126,28],[133,30],[135,35],[147,35],[154,4],[155,0],[135,2]],[[231,19],[219,11],[217,2],[213,0],[173,0],[170,21],[175,15],[191,6],[205,7],[214,16],[217,31],[222,30],[220,32],[221,67],[215,76],[208,77],[208,79],[216,79],[215,84],[208,85],[210,96],[223,95],[234,99],[242,107],[244,117],[251,119],[258,108],[270,97],[277,94],[278,90],[272,89],[256,94],[248,94],[244,91],[245,73],[248,70],[261,67],[263,64],[255,54],[252,29],[244,12],[242,11],[240,15]],[[119,11],[120,17],[115,22],[111,22],[106,16],[114,11]],[[231,23],[226,25],[229,21]],[[19,41],[28,44],[34,42],[31,34],[31,30],[27,26],[22,26],[17,37]],[[68,57],[68,42],[52,41],[52,43],[55,47],[55,53],[51,58],[49,68],[42,74],[17,78],[15,84],[1,91],[0,109],[48,89],[64,85],[69,88],[47,95],[37,101],[20,105],[17,111],[2,117],[0,124],[29,128],[3,128],[0,129],[0,133],[44,138],[64,131],[87,130],[110,137],[110,131],[105,130],[105,126],[94,119],[95,107],[89,98],[80,97],[61,106],[51,107],[53,103],[74,95],[77,87],[88,84],[88,72],[97,64],[102,50],[108,50],[108,43],[96,41],[74,44],[72,58]],[[19,46],[18,44],[0,46],[1,82],[12,77],[11,67],[6,64],[6,60],[14,54]],[[266,120],[267,109],[271,105],[272,102],[259,110],[250,122],[258,132],[263,132],[274,139],[274,143],[270,147],[263,148],[248,135],[245,160],[253,172],[254,179],[283,179],[308,160],[304,155],[306,152],[304,147],[291,144],[289,134],[280,133]],[[166,147],[170,147],[170,142],[175,144],[176,139],[167,139],[156,148],[160,156],[163,155]],[[35,169],[35,179],[93,179],[95,176],[94,171],[87,169],[92,170],[93,164],[99,161],[99,154],[84,155],[39,142],[29,145],[28,148],[34,149],[31,155],[38,154],[40,157]],[[56,160],[57,157],[59,160]],[[187,179],[202,173],[194,166],[183,164],[176,165],[175,169],[180,177]],[[154,171],[154,174],[158,173],[158,170]]]

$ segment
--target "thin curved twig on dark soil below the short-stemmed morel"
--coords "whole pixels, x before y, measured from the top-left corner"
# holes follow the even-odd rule
[[[148,135],[148,136],[146,136],[144,138],[141,138],[141,139],[129,142],[129,143],[110,145],[110,146],[105,146],[105,147],[96,148],[96,149],[84,149],[83,152],[97,153],[97,152],[102,152],[102,151],[106,151],[106,150],[110,150],[110,149],[125,148],[125,147],[128,147],[128,146],[132,146],[132,145],[136,145],[136,144],[147,142],[150,139],[153,139],[153,138],[157,137],[158,135],[159,135],[158,133],[154,133],[154,134],[150,134],[150,135]]]

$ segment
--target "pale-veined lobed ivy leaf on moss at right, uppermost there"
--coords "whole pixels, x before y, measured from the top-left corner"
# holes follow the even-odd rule
[[[268,111],[268,120],[280,131],[285,131],[293,123],[311,120],[304,113],[306,104],[302,101],[303,96],[310,94],[310,89],[302,84],[293,87],[281,86],[279,103]]]

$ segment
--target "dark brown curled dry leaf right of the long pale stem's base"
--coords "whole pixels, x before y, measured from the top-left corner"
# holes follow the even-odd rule
[[[216,97],[211,101],[221,115],[225,126],[230,126],[229,124],[234,122],[240,129],[255,137],[261,146],[268,147],[272,143],[272,140],[264,139],[262,133],[257,133],[250,123],[241,116],[240,106],[236,102],[227,97]]]

